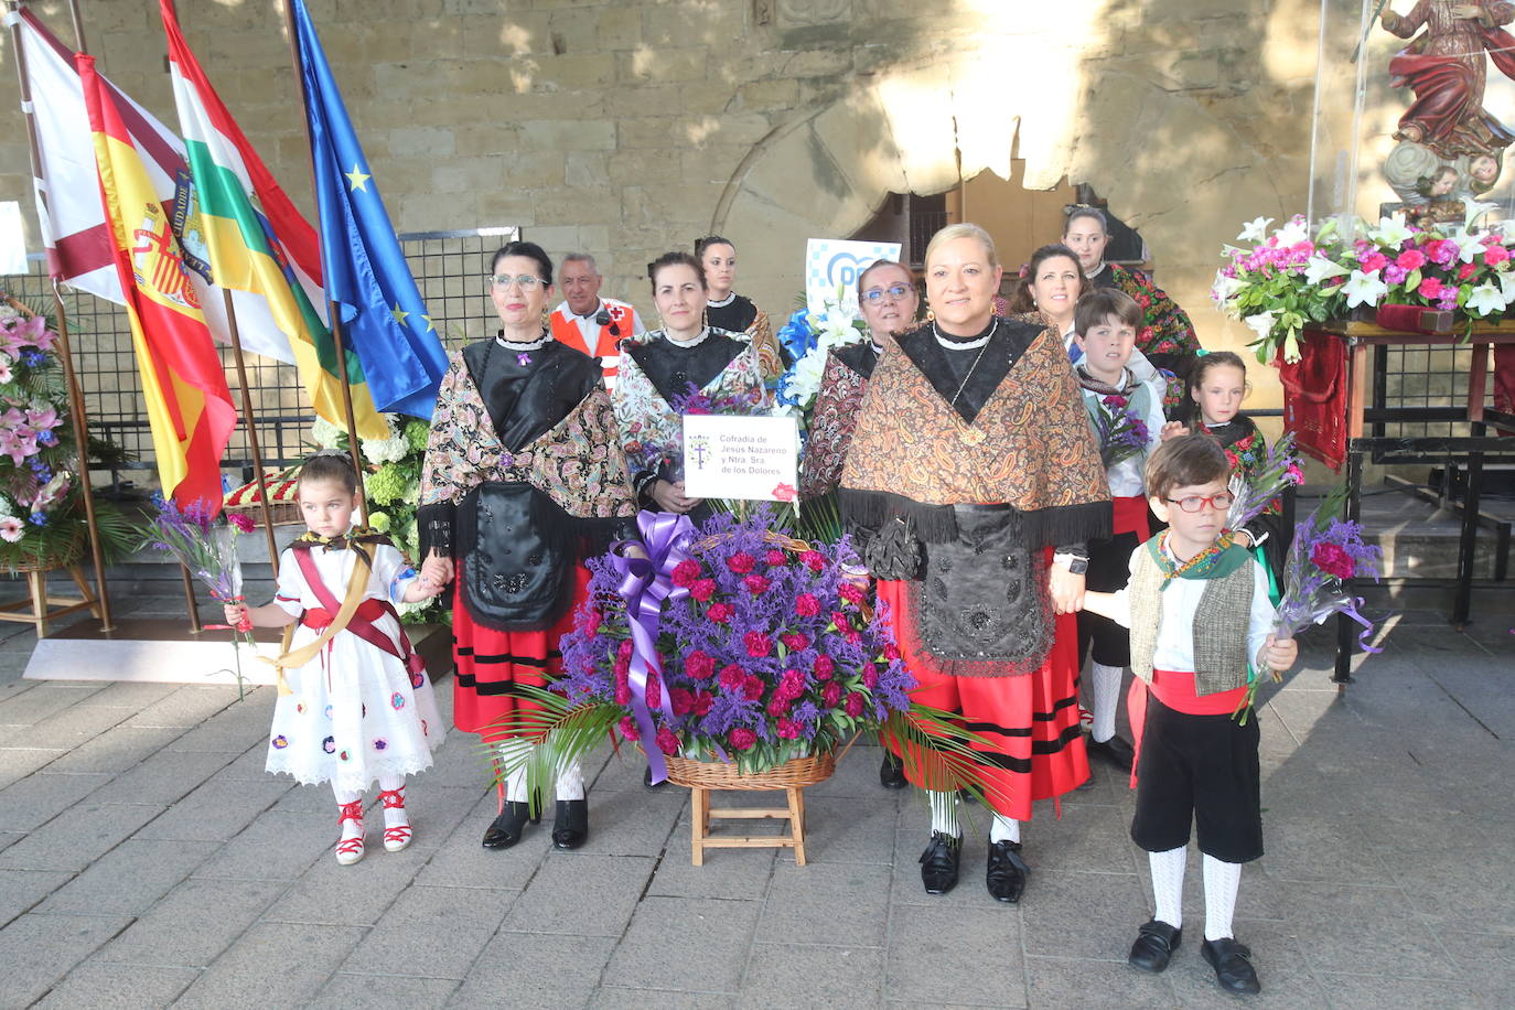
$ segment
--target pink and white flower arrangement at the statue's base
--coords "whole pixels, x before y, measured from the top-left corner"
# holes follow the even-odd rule
[[[1230,262],[1215,274],[1210,297],[1253,329],[1248,347],[1264,363],[1279,354],[1297,362],[1307,323],[1357,307],[1429,306],[1470,326],[1497,321],[1515,303],[1515,236],[1474,227],[1491,206],[1470,203],[1462,229],[1424,230],[1395,214],[1377,226],[1357,221],[1348,233],[1339,218],[1312,227],[1295,215],[1270,233],[1273,218],[1256,218],[1236,236],[1248,248],[1224,248]]]

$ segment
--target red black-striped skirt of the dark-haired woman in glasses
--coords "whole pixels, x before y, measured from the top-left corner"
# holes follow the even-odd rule
[[[562,636],[573,630],[574,612],[589,597],[589,571],[574,571],[573,603],[562,616],[539,631],[497,631],[476,622],[458,583],[453,595],[453,725],[477,733],[488,742],[501,740],[498,722],[518,710],[538,706],[520,697],[518,687],[542,687],[562,672]]]

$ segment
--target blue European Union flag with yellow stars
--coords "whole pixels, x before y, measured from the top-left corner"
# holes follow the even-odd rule
[[[430,418],[447,351],[426,315],[311,15],[303,0],[289,5],[311,126],[326,297],[339,307],[344,342],[364,363],[374,406]]]

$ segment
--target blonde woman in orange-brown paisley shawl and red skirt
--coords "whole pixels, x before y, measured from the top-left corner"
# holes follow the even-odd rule
[[[1030,872],[1020,822],[1089,775],[1073,615],[1083,545],[1110,535],[1110,495],[1060,335],[994,315],[1001,273],[983,229],[932,238],[935,320],[898,335],[874,368],[839,501],[921,684],[914,698],[983,737],[985,883],[1018,901]],[[945,893],[962,853],[957,796],[920,771],[932,806],[921,883]]]

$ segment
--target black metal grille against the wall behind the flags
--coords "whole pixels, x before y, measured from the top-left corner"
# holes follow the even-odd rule
[[[494,315],[485,291],[489,270],[486,256],[501,244],[520,236],[514,227],[467,229],[458,232],[421,232],[400,235],[411,273],[426,301],[427,312],[442,342],[453,350],[468,341],[483,338]],[[0,289],[9,291],[32,309],[52,312],[53,295],[45,268],[33,263],[33,273],[0,279]],[[85,394],[89,432],[127,450],[136,462],[126,469],[155,471],[153,439],[142,403],[142,383],[132,350],[132,330],[121,306],[83,292],[65,292],[64,310],[73,341],[74,368]],[[305,386],[294,365],[285,365],[259,354],[244,354],[248,395],[258,418],[258,439],[264,463],[288,466],[309,451],[309,430],[314,415],[306,404]],[[221,348],[227,386],[238,415],[242,412],[236,385],[236,365],[229,348]],[[241,469],[250,480],[251,453],[247,432],[238,426],[223,460],[224,469]],[[112,472],[112,480],[121,474]]]

